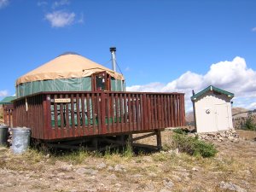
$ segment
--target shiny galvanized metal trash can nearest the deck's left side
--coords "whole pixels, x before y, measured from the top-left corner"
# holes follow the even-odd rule
[[[12,151],[14,154],[22,154],[30,144],[31,128],[14,127],[12,128]]]

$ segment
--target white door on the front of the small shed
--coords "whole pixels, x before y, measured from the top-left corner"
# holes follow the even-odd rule
[[[228,130],[230,125],[228,105],[226,103],[216,105],[216,116],[218,131]]]

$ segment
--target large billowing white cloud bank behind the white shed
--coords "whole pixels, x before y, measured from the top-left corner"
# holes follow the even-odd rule
[[[192,90],[198,92],[208,85],[235,93],[234,106],[243,108],[253,108],[256,102],[256,71],[248,68],[246,61],[237,56],[233,61],[220,61],[212,64],[209,71],[204,74],[183,73],[178,79],[172,80],[168,84],[151,83],[145,85],[135,85],[127,87],[129,91],[164,91],[185,93],[186,109],[191,109],[190,96]],[[236,105],[237,103],[237,105]]]

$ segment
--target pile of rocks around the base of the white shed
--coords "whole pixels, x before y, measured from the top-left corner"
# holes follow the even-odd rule
[[[207,133],[190,133],[191,137],[198,137],[201,140],[205,141],[218,141],[218,142],[224,142],[224,141],[230,141],[233,143],[239,142],[239,135],[236,132],[236,130],[231,129],[228,131],[218,131],[218,132],[207,132]]]

